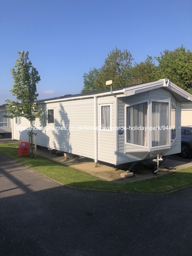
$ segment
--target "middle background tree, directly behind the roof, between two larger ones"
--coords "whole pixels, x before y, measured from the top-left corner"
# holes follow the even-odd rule
[[[132,67],[133,84],[153,82],[155,80],[156,65],[151,56],[143,62],[135,63]]]

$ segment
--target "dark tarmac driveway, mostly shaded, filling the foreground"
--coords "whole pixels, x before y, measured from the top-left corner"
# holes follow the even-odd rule
[[[191,256],[192,187],[71,189],[0,155],[1,256]]]

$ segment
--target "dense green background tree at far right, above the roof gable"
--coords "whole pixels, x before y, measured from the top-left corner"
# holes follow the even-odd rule
[[[156,78],[168,78],[182,89],[192,93],[192,52],[183,45],[174,51],[165,50],[155,57],[159,62]]]

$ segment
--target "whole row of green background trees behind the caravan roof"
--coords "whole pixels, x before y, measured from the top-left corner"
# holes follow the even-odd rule
[[[82,93],[109,89],[107,80],[113,80],[113,87],[152,82],[168,78],[182,89],[192,93],[192,52],[181,45],[174,51],[165,50],[160,57],[147,56],[140,63],[134,63],[131,53],[115,48],[103,66],[84,73]],[[156,64],[155,64],[156,61]],[[158,62],[158,63],[157,63]]]

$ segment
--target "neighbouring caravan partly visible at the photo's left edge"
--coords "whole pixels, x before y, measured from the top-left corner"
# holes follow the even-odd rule
[[[4,118],[9,114],[6,108],[7,104],[0,105],[0,137],[11,138],[11,119]]]

